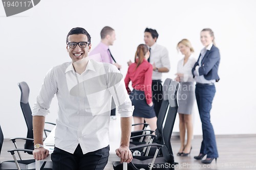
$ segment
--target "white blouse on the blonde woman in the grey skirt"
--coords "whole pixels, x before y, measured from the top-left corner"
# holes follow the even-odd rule
[[[180,79],[180,82],[194,82],[193,74],[192,74],[192,68],[194,67],[195,63],[197,62],[197,59],[193,57],[193,55],[190,55],[187,62],[184,65],[184,58],[183,57],[177,65],[177,73],[181,73],[184,76]]]

